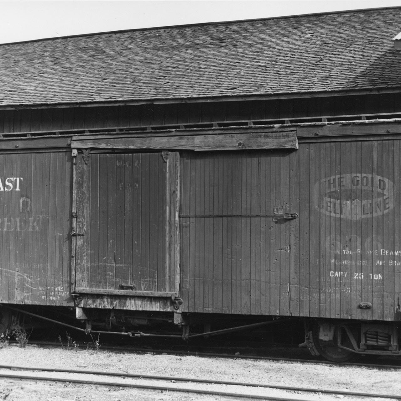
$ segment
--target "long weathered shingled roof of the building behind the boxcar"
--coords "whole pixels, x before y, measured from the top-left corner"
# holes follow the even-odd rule
[[[0,106],[401,88],[401,8],[0,45]]]

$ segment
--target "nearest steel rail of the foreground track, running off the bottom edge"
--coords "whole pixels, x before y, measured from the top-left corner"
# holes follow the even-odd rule
[[[217,390],[202,390],[194,389],[191,387],[174,387],[166,385],[146,385],[146,384],[134,384],[124,382],[105,382],[97,380],[86,380],[86,379],[73,379],[65,377],[50,377],[50,376],[35,376],[35,375],[11,375],[0,373],[0,377],[7,379],[22,379],[22,380],[34,380],[34,381],[53,381],[63,383],[80,383],[89,385],[109,386],[109,387],[129,387],[135,389],[146,389],[146,390],[161,390],[161,391],[175,391],[180,393],[196,393],[196,394],[208,394],[208,395],[220,395],[223,397],[237,397],[244,399],[263,399],[271,401],[305,401],[304,399],[288,398],[288,397],[273,397],[270,395],[256,395],[256,394],[245,394],[245,393],[232,393],[228,391],[217,391]]]

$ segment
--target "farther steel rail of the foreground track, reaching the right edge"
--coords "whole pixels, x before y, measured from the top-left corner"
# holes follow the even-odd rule
[[[343,390],[330,390],[309,387],[295,387],[295,386],[281,386],[270,384],[257,384],[247,382],[235,382],[225,380],[209,380],[209,379],[196,379],[190,377],[176,377],[176,376],[160,376],[160,375],[141,375],[138,373],[121,373],[121,372],[101,372],[101,371],[83,371],[79,369],[57,369],[57,368],[40,368],[40,367],[23,367],[12,365],[0,365],[0,369],[12,369],[20,371],[41,371],[41,372],[57,372],[57,373],[74,373],[79,375],[97,375],[97,376],[111,376],[111,377],[127,377],[131,379],[150,379],[150,380],[164,380],[164,381],[182,381],[189,383],[203,383],[203,384],[217,384],[229,386],[244,386],[244,387],[261,387],[268,389],[287,390],[287,391],[304,391],[309,393],[322,393],[322,394],[335,394],[347,395],[357,397],[371,397],[371,398],[386,398],[386,399],[401,399],[401,396],[376,394],[376,393],[361,393],[357,391],[343,391]],[[1,377],[1,373],[0,373]]]

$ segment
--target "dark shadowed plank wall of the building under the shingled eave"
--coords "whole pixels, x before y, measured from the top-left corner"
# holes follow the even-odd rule
[[[0,110],[0,133],[401,112],[399,94]],[[372,107],[374,105],[374,107]]]

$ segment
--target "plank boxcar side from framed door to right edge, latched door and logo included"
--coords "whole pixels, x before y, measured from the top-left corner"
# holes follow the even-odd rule
[[[339,139],[181,155],[184,311],[400,319],[401,140]]]

